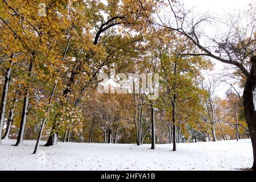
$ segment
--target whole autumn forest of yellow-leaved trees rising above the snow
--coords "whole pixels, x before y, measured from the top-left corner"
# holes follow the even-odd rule
[[[250,139],[255,169],[255,12],[255,2],[224,20],[175,0],[1,0],[0,144],[34,140],[32,155],[68,142],[169,143],[176,152],[179,143]],[[222,75],[205,76],[218,64]],[[148,82],[157,74],[147,86],[158,97],[111,92],[127,90],[111,70]]]

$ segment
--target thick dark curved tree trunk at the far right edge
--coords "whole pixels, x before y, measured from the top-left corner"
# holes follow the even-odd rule
[[[243,90],[243,111],[253,145],[253,170],[256,169],[256,57],[251,58],[250,76]]]

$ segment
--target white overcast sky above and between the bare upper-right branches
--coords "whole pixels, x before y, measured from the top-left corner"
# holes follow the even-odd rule
[[[217,15],[218,18],[224,19],[227,13],[232,13],[237,10],[245,10],[248,8],[247,5],[249,3],[255,3],[255,0],[180,0],[184,2],[184,6],[187,9],[192,9],[195,12],[205,13],[208,12],[210,14]],[[218,30],[209,30],[210,32],[216,32]],[[224,63],[220,63],[220,61],[213,60],[216,64],[213,72],[209,72],[210,75],[216,75],[218,73],[223,72],[223,68],[228,66]],[[212,76],[207,76],[209,78],[213,78]],[[216,92],[214,93],[221,98],[225,97],[225,92],[228,90],[230,86],[222,82],[217,86]],[[238,88],[238,87],[236,87]]]

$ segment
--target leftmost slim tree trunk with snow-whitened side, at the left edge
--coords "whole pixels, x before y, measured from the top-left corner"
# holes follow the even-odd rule
[[[11,58],[13,55],[11,55]],[[11,64],[11,67],[13,66],[13,61],[9,61]],[[6,69],[5,73],[5,82],[3,83],[3,92],[2,92],[2,100],[1,100],[1,106],[0,106],[0,144],[2,144],[2,131],[3,131],[3,122],[5,121],[5,110],[6,110],[6,104],[7,104],[7,96],[9,91],[9,82],[11,78],[11,67]]]

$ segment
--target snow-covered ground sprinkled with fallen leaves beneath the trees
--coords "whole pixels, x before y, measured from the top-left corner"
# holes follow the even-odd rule
[[[2,140],[0,170],[238,170],[253,163],[250,139],[171,144],[57,143],[40,146],[35,141],[15,147],[15,140]],[[41,144],[44,144],[42,142]]]

